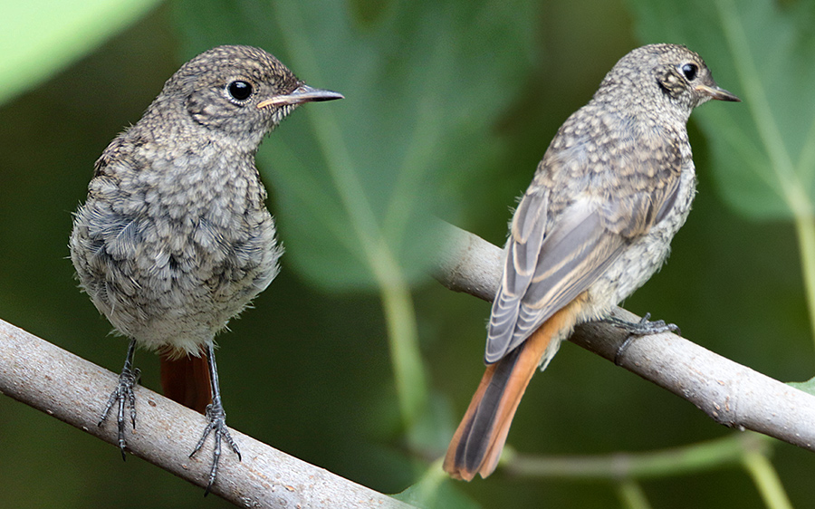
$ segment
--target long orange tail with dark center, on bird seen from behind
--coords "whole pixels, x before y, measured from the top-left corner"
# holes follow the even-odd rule
[[[447,447],[444,468],[455,479],[470,481],[476,474],[490,475],[498,465],[503,444],[523,392],[553,338],[574,326],[580,299],[544,322],[521,346],[487,367],[465,417]],[[556,346],[556,345],[553,345]]]

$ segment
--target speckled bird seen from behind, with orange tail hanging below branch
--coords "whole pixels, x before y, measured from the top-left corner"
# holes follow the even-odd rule
[[[711,99],[739,101],[698,54],[648,45],[620,59],[558,130],[513,216],[488,367],[447,449],[450,475],[490,475],[535,370],[577,323],[607,317],[663,264],[695,194],[686,123]]]

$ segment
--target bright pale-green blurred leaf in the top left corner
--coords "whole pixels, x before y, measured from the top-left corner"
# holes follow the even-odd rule
[[[4,2],[0,103],[34,88],[157,4],[158,0]]]

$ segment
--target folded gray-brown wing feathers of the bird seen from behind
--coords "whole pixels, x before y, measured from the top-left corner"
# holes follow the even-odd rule
[[[678,161],[676,161],[678,165]],[[678,166],[653,192],[582,195],[546,231],[550,190],[532,187],[513,219],[484,360],[502,359],[552,314],[587,290],[627,245],[662,220],[676,200]]]

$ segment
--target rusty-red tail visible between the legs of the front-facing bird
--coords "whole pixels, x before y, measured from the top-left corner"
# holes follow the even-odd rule
[[[206,353],[201,352],[200,357],[185,355],[179,359],[162,354],[161,387],[169,399],[206,414],[206,406],[212,403]]]

